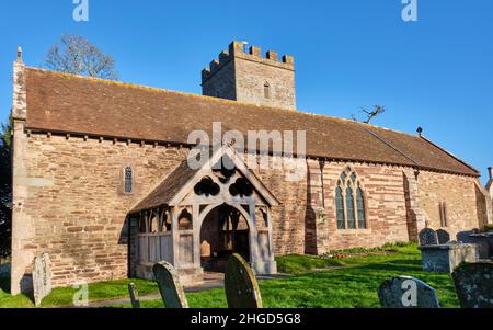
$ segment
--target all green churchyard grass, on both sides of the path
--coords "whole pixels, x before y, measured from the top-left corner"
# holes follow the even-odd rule
[[[392,276],[409,275],[432,285],[437,291],[438,299],[444,307],[459,307],[451,276],[423,272],[421,254],[416,246],[387,247],[369,254],[359,254],[360,252],[341,251],[342,254],[349,255],[342,259],[303,255],[278,258],[279,271],[296,275],[261,282],[264,306],[278,308],[379,307],[377,289],[380,283]],[[340,253],[334,254],[340,255]],[[320,270],[323,268],[333,269]],[[136,283],[140,295],[158,292],[152,282],[131,281]],[[90,300],[126,297],[128,282],[130,280],[91,284]],[[27,297],[10,297],[2,287],[3,285],[0,286],[0,307],[32,307],[33,304]],[[73,293],[72,288],[57,288],[44,300],[43,307],[70,305]],[[187,298],[191,307],[196,308],[227,306],[223,289],[191,293],[187,294]],[[163,307],[160,299],[142,301],[141,305],[149,308]],[[129,305],[116,307],[129,307]]]

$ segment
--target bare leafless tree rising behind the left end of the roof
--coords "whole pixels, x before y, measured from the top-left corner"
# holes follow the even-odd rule
[[[115,60],[78,35],[64,35],[46,55],[50,70],[110,80],[118,79]]]

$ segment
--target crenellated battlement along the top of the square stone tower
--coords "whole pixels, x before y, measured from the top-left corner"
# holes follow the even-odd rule
[[[260,47],[251,46],[248,52],[245,52],[243,43],[232,42],[229,45],[228,50],[221,52],[218,59],[214,59],[208,67],[202,70],[203,83],[234,58],[250,60],[280,69],[291,71],[295,70],[295,58],[290,55],[285,55],[282,57],[282,60],[279,60],[279,56],[276,52],[268,50],[264,57],[262,56]]]

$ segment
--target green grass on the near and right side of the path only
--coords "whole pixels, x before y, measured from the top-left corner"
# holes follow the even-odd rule
[[[342,251],[334,251],[341,253]],[[357,255],[325,263],[329,270],[320,270],[321,263],[313,257],[288,255],[278,258],[282,271],[297,272],[284,280],[261,281],[260,289],[264,307],[272,308],[378,308],[378,287],[393,276],[408,275],[433,286],[444,307],[458,308],[459,301],[449,274],[423,272],[421,254],[415,244],[388,246],[374,253],[353,251]],[[389,253],[381,253],[389,252]],[[329,259],[331,260],[331,259]],[[299,264],[296,265],[295,262]],[[337,266],[339,265],[339,266]],[[341,268],[341,265],[344,265]],[[334,268],[336,266],[336,268]],[[333,269],[330,269],[333,268]],[[314,272],[307,272],[317,269]],[[223,289],[187,294],[192,308],[226,308]],[[117,307],[129,307],[119,305]],[[142,308],[162,308],[160,299],[141,303]]]

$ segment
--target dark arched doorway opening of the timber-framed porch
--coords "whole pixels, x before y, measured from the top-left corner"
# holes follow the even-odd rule
[[[243,214],[222,204],[211,209],[200,228],[200,265],[206,272],[223,272],[232,253],[250,261],[250,228]]]

